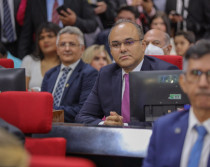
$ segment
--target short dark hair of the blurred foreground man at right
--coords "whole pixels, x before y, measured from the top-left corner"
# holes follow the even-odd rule
[[[210,40],[202,39],[187,50],[185,59],[200,59],[206,54],[210,54]]]

